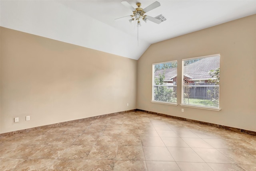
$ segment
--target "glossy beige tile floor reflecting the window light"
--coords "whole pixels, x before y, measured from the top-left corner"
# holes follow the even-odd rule
[[[141,111],[0,141],[1,171],[256,171],[256,137]]]

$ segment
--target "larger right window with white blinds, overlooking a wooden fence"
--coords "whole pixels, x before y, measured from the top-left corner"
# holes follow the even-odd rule
[[[182,104],[219,108],[220,55],[182,60]]]

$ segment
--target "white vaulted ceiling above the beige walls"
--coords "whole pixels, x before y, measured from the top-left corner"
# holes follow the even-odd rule
[[[80,45],[131,59],[139,59],[152,44],[200,29],[256,14],[256,0],[158,0],[146,13],[167,20],[141,22],[139,45],[132,14],[122,0],[0,0],[0,26]],[[154,0],[130,0],[141,8]],[[135,23],[135,22],[134,22]]]

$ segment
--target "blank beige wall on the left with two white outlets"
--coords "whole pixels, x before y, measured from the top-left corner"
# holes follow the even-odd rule
[[[136,109],[136,60],[0,31],[0,133]]]

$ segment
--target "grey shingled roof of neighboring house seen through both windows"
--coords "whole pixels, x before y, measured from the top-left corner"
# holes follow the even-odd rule
[[[192,80],[203,80],[212,78],[209,75],[210,70],[215,70],[219,68],[220,61],[216,60],[214,57],[202,58],[194,63],[190,63],[184,67],[184,75]],[[173,81],[177,76],[176,68],[169,69],[159,69],[156,70],[155,76],[158,76],[160,73],[165,73],[164,81]]]

